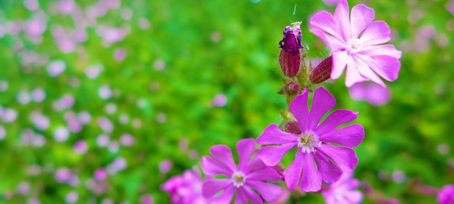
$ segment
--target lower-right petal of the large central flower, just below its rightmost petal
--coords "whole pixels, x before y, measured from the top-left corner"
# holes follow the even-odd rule
[[[328,156],[342,171],[352,171],[358,163],[355,150],[348,147],[322,144],[317,150]]]

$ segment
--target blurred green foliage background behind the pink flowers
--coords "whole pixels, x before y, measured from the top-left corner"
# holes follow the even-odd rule
[[[286,106],[277,94],[282,31],[302,21],[308,56],[327,57],[307,21],[318,10],[334,10],[319,0],[84,0],[65,13],[68,6],[60,1],[39,1],[38,8],[30,2],[0,1],[0,106],[17,113],[14,121],[0,120],[5,131],[0,139],[1,203],[61,203],[68,192],[76,192],[80,203],[136,203],[144,195],[169,203],[160,185],[199,164],[210,146],[233,147],[238,139],[256,138],[280,122]],[[437,188],[454,183],[454,16],[447,1],[349,1],[350,7],[360,3],[390,25],[390,43],[403,54],[398,80],[388,83],[392,99],[384,106],[351,99],[343,79],[323,84],[336,97],[337,109],[360,112],[355,122],[364,125],[366,137],[355,148],[355,177],[402,203],[433,203],[435,197],[417,193],[412,182]],[[27,31],[35,26],[30,19],[43,23]],[[59,28],[66,31],[63,37]],[[66,39],[72,31],[85,33],[86,39]],[[126,57],[116,61],[115,52],[126,52]],[[66,66],[54,78],[48,69],[55,60]],[[103,67],[99,77],[89,79],[87,69],[97,65]],[[108,99],[99,95],[105,85],[112,92]],[[45,99],[25,103],[35,88],[45,92]],[[65,94],[73,96],[74,106],[55,110],[55,101]],[[226,96],[225,106],[213,106],[218,94]],[[57,142],[55,130],[67,126],[64,115],[70,111],[87,111],[91,121]],[[44,130],[32,122],[34,112],[49,119]],[[112,131],[100,128],[103,117]],[[42,135],[44,144],[29,144],[26,129]],[[104,132],[110,148],[97,144]],[[120,144],[126,133],[135,139],[131,146]],[[73,149],[80,140],[88,145],[85,154]],[[88,189],[93,172],[118,158],[126,160],[126,168],[107,177],[106,190]],[[63,167],[78,176],[78,185],[54,179],[55,170]],[[397,176],[402,173],[403,180]],[[400,179],[393,180],[393,174]],[[300,199],[322,201],[317,193]]]

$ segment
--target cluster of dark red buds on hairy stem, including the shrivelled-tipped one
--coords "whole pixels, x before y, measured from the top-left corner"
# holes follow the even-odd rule
[[[287,26],[283,32],[283,38],[279,42],[281,48],[279,54],[279,64],[282,73],[291,80],[283,80],[284,87],[279,91],[279,94],[292,96],[297,95],[301,87],[306,87],[310,84],[320,84],[330,78],[332,57],[324,59],[315,68],[305,64],[304,46],[301,45],[301,22],[292,23],[292,26]],[[299,75],[298,75],[299,74]]]

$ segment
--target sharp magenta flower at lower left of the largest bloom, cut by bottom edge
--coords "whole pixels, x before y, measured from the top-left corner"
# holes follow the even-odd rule
[[[210,203],[230,203],[236,192],[235,203],[263,203],[272,201],[280,195],[282,189],[266,181],[277,182],[281,176],[271,167],[267,167],[258,157],[249,160],[255,150],[252,138],[242,139],[236,143],[239,163],[235,165],[232,151],[225,145],[214,145],[210,148],[212,157],[202,158],[202,169],[206,175],[224,175],[225,179],[207,180],[202,185],[202,195],[210,198]],[[257,191],[259,195],[255,192]],[[215,196],[222,191],[218,196]]]

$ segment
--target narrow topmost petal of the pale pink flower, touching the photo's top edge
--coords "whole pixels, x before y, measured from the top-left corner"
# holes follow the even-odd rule
[[[346,0],[339,1],[336,11],[334,11],[334,21],[340,28],[340,33],[345,42],[351,38],[350,16],[348,3]]]

